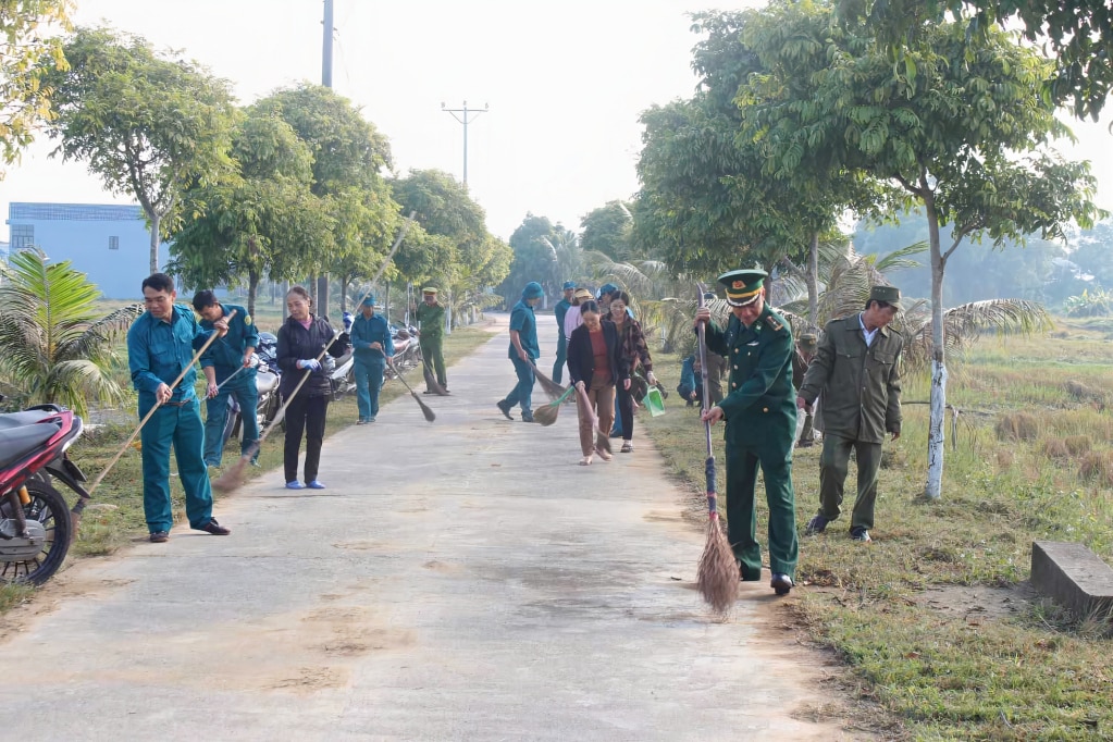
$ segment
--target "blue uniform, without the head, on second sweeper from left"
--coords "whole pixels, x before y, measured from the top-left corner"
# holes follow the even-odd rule
[[[235,310],[236,316],[228,323],[228,334],[218,338],[209,346],[205,355],[201,356],[201,368],[211,366],[216,372],[216,383],[221,384],[233,374],[234,379],[228,382],[216,396],[205,403],[205,463],[209,466],[219,466],[224,455],[224,426],[228,419],[228,397],[234,396],[239,403],[239,416],[244,425],[244,441],[239,445],[239,453],[246,454],[259,441],[259,422],[255,415],[259,403],[259,389],[255,386],[255,369],[243,368],[244,354],[247,348],[254,348],[259,344],[259,332],[252,321],[252,316],[247,309],[236,304],[223,304],[224,316]],[[201,319],[201,329],[211,330],[213,323]],[[238,372],[238,373],[237,373]],[[255,452],[257,458],[259,452]]]

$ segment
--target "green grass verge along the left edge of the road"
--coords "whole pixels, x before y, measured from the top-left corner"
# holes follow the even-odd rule
[[[444,340],[445,363],[447,365],[456,363],[490,338],[490,332],[481,326],[453,330],[452,335],[445,337]],[[421,388],[424,385],[418,369],[410,370],[406,374],[406,380],[415,388]],[[383,387],[380,402],[386,404],[403,394],[406,394],[406,390],[402,384],[387,382]],[[328,436],[344,429],[352,425],[356,417],[358,417],[358,413],[354,395],[331,403],[325,435]],[[107,425],[87,433],[70,449],[70,457],[92,479],[124,445],[137,422],[137,419],[132,419],[126,424]],[[250,471],[258,475],[280,466],[282,448],[282,433],[275,432],[264,442],[259,453],[259,463],[263,467]],[[238,444],[233,443],[225,451],[225,464],[234,464],[238,459],[237,454]],[[176,471],[173,463],[170,471]],[[170,485],[175,520],[181,521],[185,517],[185,501],[177,476],[170,477]],[[129,542],[142,540],[146,534],[147,526],[142,513],[141,456],[138,451],[129,449],[120,457],[120,461],[95,493],[93,499],[86,509],[81,527],[73,540],[70,554],[73,558],[110,554]],[[0,609],[2,609],[3,600],[2,594],[0,594]]]

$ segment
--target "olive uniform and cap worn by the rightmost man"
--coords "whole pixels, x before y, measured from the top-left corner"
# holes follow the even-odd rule
[[[888,290],[885,290],[888,289]],[[884,298],[878,298],[884,297]],[[899,291],[875,286],[870,299],[899,310]],[[861,315],[827,323],[824,338],[804,376],[799,396],[808,405],[823,393],[824,449],[819,457],[819,511],[826,521],[840,514],[850,451],[858,463],[858,495],[850,530],[874,527],[877,473],[885,434],[900,432],[900,352],[904,337],[880,327],[866,345]],[[810,526],[809,526],[810,528]],[[817,531],[821,531],[820,525]]]

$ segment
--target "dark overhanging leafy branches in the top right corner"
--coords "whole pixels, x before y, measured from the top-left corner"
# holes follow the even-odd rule
[[[1056,103],[1071,105],[1077,118],[1097,120],[1113,90],[1113,7],[1107,0],[841,0],[849,23],[868,23],[890,55],[903,63],[903,48],[919,29],[953,20],[969,36],[995,24],[1024,24],[1024,38],[1043,44],[1055,59],[1044,90]]]

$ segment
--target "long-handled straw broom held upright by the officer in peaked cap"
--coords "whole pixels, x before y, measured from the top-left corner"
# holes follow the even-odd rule
[[[697,290],[699,306],[702,308],[703,287],[698,286]],[[705,323],[699,324],[699,363],[703,380],[703,412],[707,412],[711,395],[707,378],[707,327]],[[703,554],[699,560],[696,584],[699,586],[703,601],[711,606],[712,611],[721,614],[729,611],[738,598],[738,562],[735,560],[730,543],[719,525],[716,502],[718,497],[715,482],[715,451],[711,447],[711,424],[708,422],[703,423],[703,434],[707,437],[707,462],[703,468],[707,478],[708,524],[707,544],[703,546]]]

